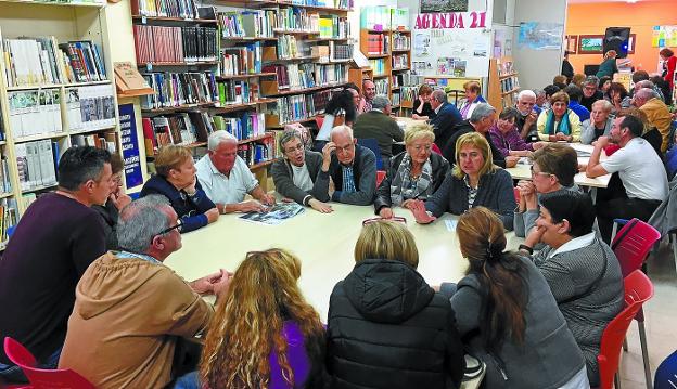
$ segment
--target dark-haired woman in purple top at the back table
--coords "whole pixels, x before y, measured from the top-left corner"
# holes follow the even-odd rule
[[[496,148],[498,148],[503,157],[526,157],[534,150],[538,150],[545,145],[542,142],[525,142],[520,135],[515,122],[521,116],[516,108],[508,107],[498,115],[498,120],[489,129],[489,137]]]

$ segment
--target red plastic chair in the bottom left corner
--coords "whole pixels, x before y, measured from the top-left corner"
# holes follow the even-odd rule
[[[20,366],[33,389],[94,389],[85,377],[69,368],[44,369],[36,367],[36,359],[18,341],[5,337],[4,353]]]

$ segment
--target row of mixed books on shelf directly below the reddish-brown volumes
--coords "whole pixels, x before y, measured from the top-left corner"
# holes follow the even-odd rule
[[[143,109],[218,101],[218,87],[212,72],[151,73],[144,74],[143,78],[155,91],[154,94],[141,99]]]

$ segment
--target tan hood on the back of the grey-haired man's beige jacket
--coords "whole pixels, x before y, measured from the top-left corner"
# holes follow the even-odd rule
[[[140,271],[142,268],[143,271]],[[85,320],[100,315],[128,299],[143,297],[137,289],[164,270],[164,265],[138,258],[116,258],[111,251],[95,260],[75,290],[77,313]]]

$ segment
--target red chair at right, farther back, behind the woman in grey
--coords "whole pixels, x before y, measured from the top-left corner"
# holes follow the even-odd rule
[[[631,219],[614,236],[611,248],[618,262],[621,272],[626,277],[631,272],[641,269],[653,245],[661,239],[661,233],[648,223],[638,219]],[[647,330],[644,328],[644,311],[642,309],[635,316],[639,327],[639,343],[641,346],[644,364],[644,379],[647,388],[651,389],[651,365],[649,364],[649,349],[647,347]],[[627,346],[624,346],[627,351]]]

